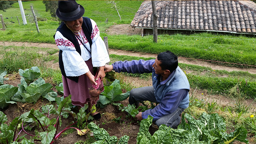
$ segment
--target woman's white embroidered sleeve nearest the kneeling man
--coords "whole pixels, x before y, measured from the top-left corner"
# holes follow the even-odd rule
[[[91,19],[92,22],[92,65],[93,67],[102,67],[108,63],[109,56],[104,41],[100,37],[100,31],[96,23]]]

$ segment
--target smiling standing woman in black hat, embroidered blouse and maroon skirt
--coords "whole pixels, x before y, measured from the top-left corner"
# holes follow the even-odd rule
[[[105,77],[104,65],[109,62],[106,46],[100,37],[96,23],[82,17],[84,7],[76,1],[59,1],[56,15],[63,20],[54,35],[60,49],[59,65],[62,74],[64,97],[71,96],[72,104],[80,109],[88,103],[92,109],[88,88],[97,84],[93,67],[98,67],[96,79]],[[97,70],[96,70],[97,71]],[[104,90],[103,84],[99,86]],[[100,120],[99,112],[92,113]]]

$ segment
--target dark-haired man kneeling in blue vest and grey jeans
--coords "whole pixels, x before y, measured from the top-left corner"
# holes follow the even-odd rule
[[[153,116],[157,126],[165,124],[175,128],[180,124],[180,115],[189,103],[187,76],[178,67],[178,57],[170,51],[157,55],[155,60],[116,61],[105,65],[105,73],[111,70],[128,73],[152,73],[153,86],[132,89],[130,105],[141,105],[138,101],[148,100],[159,103],[155,108],[139,112],[137,120]]]

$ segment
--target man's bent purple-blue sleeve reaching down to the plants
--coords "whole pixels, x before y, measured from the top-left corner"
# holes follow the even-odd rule
[[[148,118],[148,115],[153,116],[153,121],[161,118],[162,116],[169,115],[173,113],[180,105],[181,100],[183,100],[188,95],[187,89],[181,89],[175,92],[168,92],[166,96],[161,100],[153,109],[148,109],[142,112],[142,118]]]

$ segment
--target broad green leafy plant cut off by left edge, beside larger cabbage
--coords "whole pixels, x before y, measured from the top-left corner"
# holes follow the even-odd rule
[[[5,108],[10,103],[16,103],[12,100],[16,92],[18,92],[18,87],[9,84],[0,85],[0,108]]]

